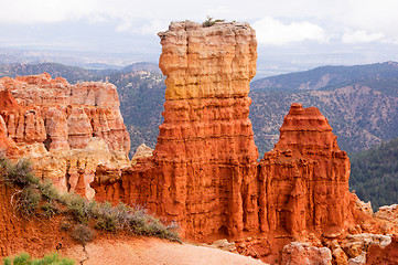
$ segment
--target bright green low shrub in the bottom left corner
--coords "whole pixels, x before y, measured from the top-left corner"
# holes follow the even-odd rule
[[[73,259],[61,257],[57,253],[45,255],[43,258],[32,259],[28,253],[21,253],[13,258],[4,257],[4,265],[74,265]]]

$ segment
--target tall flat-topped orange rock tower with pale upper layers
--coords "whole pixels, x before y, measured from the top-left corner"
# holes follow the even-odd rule
[[[159,35],[164,123],[153,157],[121,173],[122,200],[178,221],[191,239],[255,227],[258,152],[248,119],[255,32],[247,23],[187,21]],[[120,193],[105,189],[96,188],[98,198]]]

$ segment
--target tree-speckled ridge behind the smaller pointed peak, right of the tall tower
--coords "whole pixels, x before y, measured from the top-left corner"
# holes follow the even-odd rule
[[[292,102],[327,117],[346,151],[398,136],[398,63],[322,66],[254,81],[250,118],[260,153],[272,148]]]

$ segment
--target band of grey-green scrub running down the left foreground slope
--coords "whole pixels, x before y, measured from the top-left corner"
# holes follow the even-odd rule
[[[65,214],[78,224],[73,229],[72,223],[61,224],[60,229],[71,231],[72,237],[83,245],[90,242],[95,235],[86,225],[88,223],[94,224],[95,229],[109,232],[126,230],[137,235],[180,242],[175,224],[164,225],[142,208],[131,208],[123,203],[112,206],[109,202],[88,201],[73,192],[60,194],[51,181],[41,182],[35,178],[30,167],[28,160],[13,163],[0,155],[0,177],[3,177],[6,183],[21,188],[15,189],[11,203],[22,216],[29,219],[41,213],[52,218]]]

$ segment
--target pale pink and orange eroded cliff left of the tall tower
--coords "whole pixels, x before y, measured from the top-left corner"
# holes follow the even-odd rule
[[[111,84],[71,85],[46,73],[4,77],[0,114],[0,135],[8,140],[3,149],[31,157],[36,174],[63,191],[93,198],[89,182],[97,165],[112,157],[128,161],[130,139]]]

